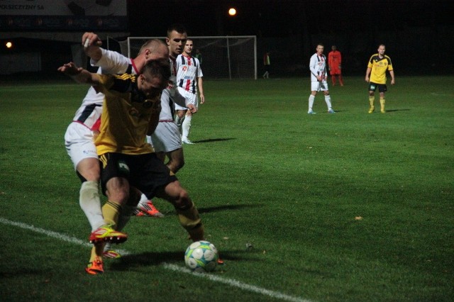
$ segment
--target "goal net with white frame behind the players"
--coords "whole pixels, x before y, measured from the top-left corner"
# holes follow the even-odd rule
[[[189,38],[194,42],[192,55],[196,54],[196,50],[201,52],[201,70],[205,78],[257,79],[257,38],[255,35]],[[128,37],[127,40],[119,42],[109,38],[108,47],[114,49],[119,45],[123,55],[135,57],[143,43],[150,39],[165,40],[165,37]]]

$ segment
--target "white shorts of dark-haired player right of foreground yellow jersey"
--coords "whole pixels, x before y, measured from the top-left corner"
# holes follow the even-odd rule
[[[155,152],[171,152],[182,147],[182,137],[174,121],[157,123],[153,135],[147,136],[147,141]]]

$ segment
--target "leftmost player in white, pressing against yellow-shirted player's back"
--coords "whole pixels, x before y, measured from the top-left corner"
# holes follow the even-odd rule
[[[129,59],[99,47],[101,40],[94,33],[84,33],[82,45],[87,55],[92,58],[90,63],[99,67],[100,74],[136,74],[148,60],[162,59],[168,55],[167,47],[162,45],[162,42],[159,46],[158,43],[149,41],[140,50],[138,57]],[[89,238],[92,242],[102,240],[111,232],[111,229],[106,227],[101,211],[99,159],[93,140],[94,133],[99,129],[103,101],[104,94],[97,94],[93,87],[90,87],[65,133],[65,147],[82,181],[79,204],[92,226],[92,235]]]

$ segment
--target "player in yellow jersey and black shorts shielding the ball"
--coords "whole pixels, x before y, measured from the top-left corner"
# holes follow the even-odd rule
[[[155,131],[159,121],[160,96],[170,78],[167,59],[149,60],[140,75],[95,74],[73,63],[58,70],[105,95],[95,139],[102,163],[101,188],[109,198],[104,217],[115,225],[121,208],[135,206],[143,192],[148,198],[157,196],[172,203],[189,237],[203,240],[204,227],[187,191],[145,142],[145,136]],[[92,254],[86,270],[89,274],[104,272],[99,250]]]

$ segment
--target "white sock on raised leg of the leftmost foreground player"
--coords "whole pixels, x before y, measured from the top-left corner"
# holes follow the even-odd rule
[[[84,181],[80,186],[79,204],[85,216],[87,216],[92,232],[104,225],[104,217],[99,198],[99,186],[97,181]]]

